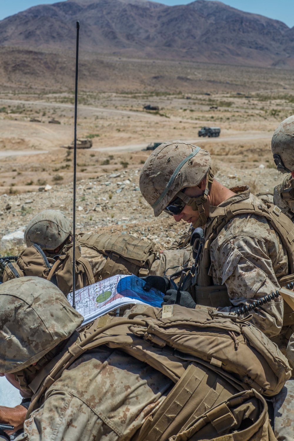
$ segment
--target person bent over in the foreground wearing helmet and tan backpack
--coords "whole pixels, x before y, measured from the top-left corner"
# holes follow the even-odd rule
[[[138,305],[80,334],[83,317],[39,277],[2,284],[0,310],[0,373],[32,396],[17,441],[276,440],[262,395],[279,392],[290,367],[254,325]]]

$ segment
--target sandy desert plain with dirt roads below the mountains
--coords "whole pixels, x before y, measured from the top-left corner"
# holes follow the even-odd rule
[[[280,121],[294,114],[291,71],[110,56],[107,63],[112,87],[109,78],[97,90],[83,77],[79,83],[78,137],[93,147],[77,154],[77,232],[130,233],[164,249],[185,231],[167,214],[154,218],[139,190],[150,142],[182,139],[207,149],[227,187],[271,193],[283,179],[270,143]],[[73,140],[74,94],[68,78],[61,84],[54,90],[53,73],[43,86],[40,78],[0,85],[0,238],[43,209],[72,216],[73,153],[61,146]],[[143,110],[148,104],[159,111]],[[220,137],[198,138],[202,126],[220,127]],[[46,185],[52,188],[44,191]]]

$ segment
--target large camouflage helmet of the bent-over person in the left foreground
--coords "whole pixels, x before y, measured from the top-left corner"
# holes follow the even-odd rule
[[[0,372],[37,363],[83,321],[54,284],[19,277],[0,285]]]

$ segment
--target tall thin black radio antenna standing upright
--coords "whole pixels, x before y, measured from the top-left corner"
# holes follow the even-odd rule
[[[75,88],[74,88],[74,194],[73,194],[73,256],[72,256],[72,306],[75,309],[75,204],[77,187],[77,116],[78,116],[78,37],[80,22],[77,22],[77,41],[75,52]]]

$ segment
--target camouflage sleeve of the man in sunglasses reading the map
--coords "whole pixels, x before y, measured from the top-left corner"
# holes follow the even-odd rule
[[[226,284],[234,306],[252,303],[279,288],[267,247],[254,237],[237,236],[228,240],[212,267],[214,280],[219,285]],[[249,299],[251,302],[247,302]],[[283,299],[279,297],[251,314],[254,325],[267,336],[275,336],[283,324]]]

